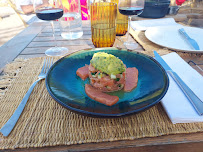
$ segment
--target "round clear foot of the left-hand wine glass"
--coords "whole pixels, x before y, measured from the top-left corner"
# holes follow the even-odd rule
[[[69,50],[65,47],[53,47],[45,51],[47,56],[64,56]]]

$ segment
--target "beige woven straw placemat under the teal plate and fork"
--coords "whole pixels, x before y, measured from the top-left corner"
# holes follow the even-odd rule
[[[57,60],[57,59],[56,59]],[[13,114],[30,85],[37,80],[43,58],[16,60],[1,76],[0,128]],[[92,118],[71,112],[55,102],[40,81],[15,128],[0,135],[0,149],[72,145],[132,140],[168,134],[202,132],[203,123],[173,125],[160,104],[120,118]]]

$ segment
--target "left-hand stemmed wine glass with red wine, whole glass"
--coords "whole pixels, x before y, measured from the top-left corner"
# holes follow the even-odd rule
[[[57,20],[63,16],[63,5],[61,0],[34,0],[33,8],[36,16],[44,21],[51,21],[52,32],[55,47],[49,48],[45,51],[47,56],[63,56],[68,53],[68,49],[65,47],[58,47],[56,44],[54,20]]]

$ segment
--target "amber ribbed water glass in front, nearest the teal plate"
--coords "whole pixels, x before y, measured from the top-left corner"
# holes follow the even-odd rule
[[[117,4],[90,4],[92,42],[95,47],[112,47],[116,38]]]

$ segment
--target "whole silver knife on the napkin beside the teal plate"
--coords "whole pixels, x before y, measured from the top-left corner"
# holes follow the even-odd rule
[[[154,51],[155,59],[163,66],[166,72],[173,78],[173,80],[178,84],[180,89],[183,91],[185,96],[189,99],[195,110],[199,115],[203,115],[203,101],[201,101],[195,93],[184,83],[184,81],[174,72],[168,64],[162,59],[162,57]]]

